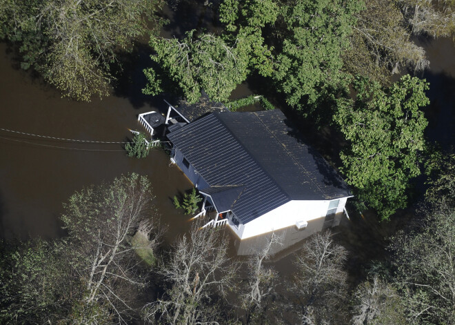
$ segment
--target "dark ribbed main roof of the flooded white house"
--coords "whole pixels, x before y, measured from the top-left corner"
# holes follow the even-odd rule
[[[223,203],[231,204],[243,224],[294,199],[351,195],[334,168],[303,143],[281,110],[213,113],[168,137],[210,184],[208,189],[199,188],[203,193],[243,186],[238,198],[230,203],[234,196],[230,193]]]

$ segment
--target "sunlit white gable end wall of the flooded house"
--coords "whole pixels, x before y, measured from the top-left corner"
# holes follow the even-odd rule
[[[347,197],[340,199],[336,213],[343,212]],[[330,201],[290,201],[237,229],[230,224],[241,239],[270,233],[273,230],[293,226],[297,221],[310,221],[325,217]]]

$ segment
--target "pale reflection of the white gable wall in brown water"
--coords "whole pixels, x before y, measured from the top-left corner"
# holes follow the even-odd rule
[[[310,220],[308,221],[307,227],[300,230],[296,226],[290,226],[274,231],[274,234],[280,238],[281,244],[272,246],[272,248],[270,248],[270,254],[275,255],[274,260],[281,259],[283,256],[290,254],[295,249],[299,248],[298,244],[303,239],[310,237],[318,231],[338,226],[343,217],[343,213],[338,213],[337,215]],[[234,239],[236,254],[252,255],[258,252],[270,241],[271,235],[272,233],[267,233],[243,240],[240,240],[239,238]]]

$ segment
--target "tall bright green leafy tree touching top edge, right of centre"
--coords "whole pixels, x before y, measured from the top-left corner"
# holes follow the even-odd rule
[[[307,114],[347,86],[341,71],[358,1],[296,0],[281,9],[282,50],[273,79],[290,106]]]

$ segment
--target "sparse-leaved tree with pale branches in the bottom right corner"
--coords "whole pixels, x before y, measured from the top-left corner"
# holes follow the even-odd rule
[[[411,233],[392,239],[392,264],[411,324],[455,322],[455,213],[439,204]]]

